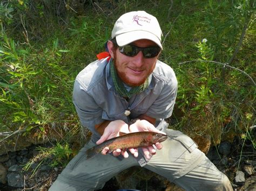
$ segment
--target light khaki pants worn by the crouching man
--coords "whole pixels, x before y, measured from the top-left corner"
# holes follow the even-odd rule
[[[233,190],[227,176],[221,173],[190,137],[180,131],[167,130],[169,136],[144,168],[149,169],[185,190]],[[132,166],[139,166],[129,158],[97,154],[86,159],[85,151],[94,146],[89,142],[73,158],[49,190],[96,190],[113,176]],[[142,152],[139,153],[141,157]]]

